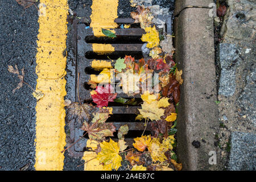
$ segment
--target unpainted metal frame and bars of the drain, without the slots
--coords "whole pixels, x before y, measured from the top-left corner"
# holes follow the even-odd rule
[[[162,19],[166,23],[166,33],[172,34],[172,18],[170,15],[166,16],[159,16],[160,19]],[[80,98],[84,99],[86,102],[91,101],[90,97],[90,90],[85,88],[85,83],[89,81],[90,74],[85,72],[85,68],[90,67],[92,61],[94,59],[86,59],[85,54],[86,52],[90,51],[92,52],[92,46],[90,43],[86,43],[85,38],[86,36],[93,36],[92,28],[85,28],[89,26],[89,20],[87,18],[81,18],[81,19],[75,19],[73,20],[73,47],[75,48],[76,54],[76,80],[77,75],[80,73],[80,81],[79,81],[79,94]],[[115,19],[115,23],[118,24],[131,24],[134,23],[134,19],[131,18],[117,18]],[[119,36],[142,36],[144,33],[144,30],[141,28],[116,28],[115,34]],[[112,44],[112,46],[115,48],[115,52],[118,55],[118,52],[125,52],[126,55],[130,55],[131,52],[141,52],[141,47],[143,43],[139,44]],[[102,59],[101,59],[102,60]],[[77,81],[76,81],[77,83]],[[76,85],[77,86],[77,85]],[[118,94],[117,97],[125,97],[129,98],[125,94]],[[138,94],[137,97],[139,98],[140,95]],[[76,101],[78,101],[77,93],[76,93]],[[138,109],[140,107],[138,106],[112,106],[113,107],[113,114],[121,114],[125,117],[129,117],[129,115],[138,114]],[[111,118],[111,115],[110,115]],[[110,119],[109,118],[109,119]],[[108,120],[109,120],[108,119]],[[127,118],[124,118],[127,121]],[[108,120],[106,122],[108,122]],[[121,119],[122,120],[122,119]],[[113,122],[113,125],[116,127],[116,130],[119,129],[122,125],[128,125],[129,126],[129,132],[133,131],[141,131],[141,134],[144,130],[144,122],[135,122],[135,121],[127,121],[127,122]],[[149,125],[147,125],[146,128],[147,132],[150,132]],[[82,131],[79,127],[76,126],[76,121],[71,121],[70,123],[70,137],[73,142],[76,142],[79,140],[82,135],[84,135],[84,131]],[[129,135],[129,133],[128,133]],[[133,138],[135,136],[132,136],[130,138],[125,138],[125,141],[129,146],[132,146],[133,144]],[[137,136],[139,137],[139,136]],[[116,138],[113,138],[114,140],[117,140]],[[71,148],[69,148],[69,154],[71,156],[83,156],[85,148],[86,148],[86,142],[87,138],[82,138],[74,144]]]

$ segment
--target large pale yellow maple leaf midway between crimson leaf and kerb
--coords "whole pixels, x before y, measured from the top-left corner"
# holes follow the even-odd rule
[[[164,115],[164,109],[158,108],[158,101],[152,101],[150,104],[148,104],[147,102],[143,102],[141,106],[142,109],[138,110],[143,118],[151,119],[151,121],[158,121],[161,119],[160,117]]]

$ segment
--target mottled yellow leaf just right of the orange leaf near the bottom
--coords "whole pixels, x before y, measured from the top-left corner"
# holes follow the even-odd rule
[[[158,138],[153,138],[148,145],[148,151],[150,151],[151,158],[153,162],[160,161],[164,162],[167,160],[166,155],[164,155],[165,148],[162,147]]]

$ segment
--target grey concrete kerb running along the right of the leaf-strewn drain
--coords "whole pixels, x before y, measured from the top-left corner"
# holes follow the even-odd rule
[[[212,156],[216,152],[218,164],[215,138],[219,123],[213,18],[207,8],[183,9],[187,6],[184,2],[188,1],[177,0],[176,12],[181,11],[174,20],[175,59],[184,78],[178,106],[177,156],[184,170],[214,170],[218,165],[209,164],[209,152]]]

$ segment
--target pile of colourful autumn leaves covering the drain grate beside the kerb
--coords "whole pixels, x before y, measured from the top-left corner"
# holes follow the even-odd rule
[[[175,107],[179,104],[180,85],[183,79],[182,71],[177,70],[173,60],[175,49],[172,47],[172,35],[162,35],[160,40],[158,27],[152,23],[154,16],[144,6],[138,6],[137,12],[131,13],[131,16],[146,32],[141,40],[146,42],[146,47],[150,50],[148,59],[142,58],[136,61],[134,57],[126,55],[123,59],[120,57],[116,60],[114,69],[104,68],[98,77],[91,77],[88,84],[92,88],[90,94],[94,104],[69,101],[67,118],[69,121],[76,119],[81,130],[86,131],[84,135],[88,134],[89,137],[87,144],[97,143],[97,149],[94,150],[97,156],[93,159],[98,160],[104,170],[118,170],[123,164],[127,166],[126,170],[181,170],[182,164],[176,162],[175,154],[177,131]],[[102,28],[102,33],[115,38],[115,34],[110,30]],[[139,79],[139,84],[127,88],[123,86],[122,91],[129,96],[135,96],[139,91],[142,93],[143,102],[138,104],[135,98],[117,98],[117,93],[111,85],[112,72],[116,77],[122,73],[121,85],[126,84],[127,79],[123,78],[126,75]],[[142,85],[146,82],[148,84],[148,77],[140,76],[154,73],[159,74],[159,81],[156,83],[151,81],[152,89],[142,90]],[[99,85],[102,82],[105,82],[104,86]],[[141,106],[135,120],[144,122],[145,130],[147,125],[150,125],[154,136],[144,135],[144,130],[141,137],[134,138],[133,147],[129,147],[125,142],[129,127],[123,125],[118,130],[117,142],[109,138],[113,137],[116,131],[113,123],[106,123],[112,115],[112,107],[108,107],[109,102],[121,103],[127,107]]]

